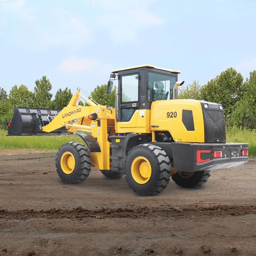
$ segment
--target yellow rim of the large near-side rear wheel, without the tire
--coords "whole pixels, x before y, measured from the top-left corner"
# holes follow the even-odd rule
[[[132,178],[139,184],[145,184],[151,177],[151,164],[144,156],[138,156],[132,161]]]

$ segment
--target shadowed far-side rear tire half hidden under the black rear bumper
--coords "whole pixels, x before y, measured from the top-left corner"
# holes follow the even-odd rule
[[[212,171],[176,172],[172,175],[172,180],[182,188],[197,188],[203,186],[211,174]]]

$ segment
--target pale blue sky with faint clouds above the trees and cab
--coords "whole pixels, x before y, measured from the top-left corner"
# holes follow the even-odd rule
[[[5,2],[8,1],[8,2]],[[0,0],[0,87],[90,93],[112,69],[151,64],[203,85],[256,69],[255,0]]]

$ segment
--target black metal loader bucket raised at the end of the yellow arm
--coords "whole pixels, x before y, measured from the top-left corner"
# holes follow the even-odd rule
[[[59,113],[59,109],[18,108],[14,105],[14,113],[8,124],[7,136],[72,134],[65,127],[49,133],[42,131],[42,127],[49,124]]]

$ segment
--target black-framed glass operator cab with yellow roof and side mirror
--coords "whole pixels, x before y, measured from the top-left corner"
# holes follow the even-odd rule
[[[116,122],[129,122],[136,111],[143,116],[153,101],[172,100],[179,73],[153,65],[112,70],[107,92],[116,88]]]

